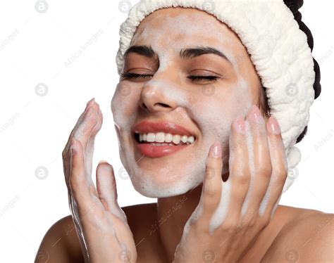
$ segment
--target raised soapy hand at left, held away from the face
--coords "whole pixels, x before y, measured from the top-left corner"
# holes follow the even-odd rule
[[[136,262],[135,241],[117,203],[113,167],[108,162],[99,162],[97,188],[91,178],[94,139],[102,120],[99,105],[92,99],[63,150],[70,211],[85,262]]]

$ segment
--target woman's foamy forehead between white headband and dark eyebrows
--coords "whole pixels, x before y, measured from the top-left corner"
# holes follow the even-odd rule
[[[179,51],[187,46],[214,46],[231,51],[244,49],[237,34],[214,15],[196,8],[161,8],[142,20],[131,44]]]

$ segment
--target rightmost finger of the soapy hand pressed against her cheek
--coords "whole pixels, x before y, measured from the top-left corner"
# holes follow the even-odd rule
[[[266,129],[268,131],[268,143],[271,154],[273,172],[268,191],[261,202],[261,214],[273,214],[283,191],[283,186],[287,178],[287,160],[285,156],[284,144],[280,134],[280,127],[274,117],[270,117]]]

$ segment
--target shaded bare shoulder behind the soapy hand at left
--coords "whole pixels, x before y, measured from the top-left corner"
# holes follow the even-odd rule
[[[59,219],[45,233],[35,263],[83,262],[80,243],[70,215]]]

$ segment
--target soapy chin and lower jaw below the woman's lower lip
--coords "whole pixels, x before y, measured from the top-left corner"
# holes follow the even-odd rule
[[[138,193],[148,198],[167,198],[183,195],[202,184],[206,144],[209,145],[195,141],[169,155],[149,158],[139,154],[133,141],[124,141],[122,148],[131,150],[120,150],[120,160]]]

